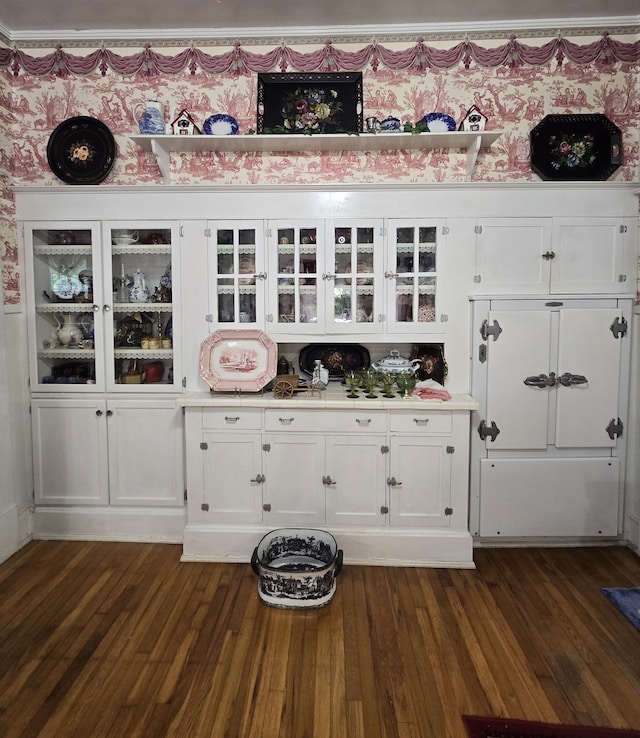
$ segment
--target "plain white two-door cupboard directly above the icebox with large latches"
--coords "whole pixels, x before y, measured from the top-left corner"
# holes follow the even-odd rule
[[[635,290],[629,218],[489,218],[476,230],[476,294]]]

